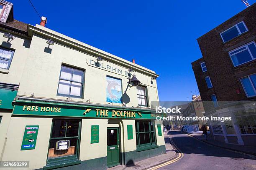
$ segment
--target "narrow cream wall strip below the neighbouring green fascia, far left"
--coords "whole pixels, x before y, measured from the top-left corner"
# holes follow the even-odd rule
[[[0,112],[0,116],[2,116],[2,120],[0,122],[0,161],[3,156],[3,148],[5,146],[5,137],[8,130],[8,126],[11,119],[11,112]]]

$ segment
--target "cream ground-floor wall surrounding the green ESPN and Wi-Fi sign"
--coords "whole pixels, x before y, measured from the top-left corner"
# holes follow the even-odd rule
[[[11,117],[2,161],[29,161],[29,168],[24,168],[26,170],[44,167],[49,147],[51,122],[52,118]],[[20,150],[26,125],[39,125],[34,150]]]

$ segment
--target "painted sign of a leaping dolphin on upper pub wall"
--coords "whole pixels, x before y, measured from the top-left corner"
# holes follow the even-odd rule
[[[122,103],[122,81],[117,78],[107,76],[107,102]]]

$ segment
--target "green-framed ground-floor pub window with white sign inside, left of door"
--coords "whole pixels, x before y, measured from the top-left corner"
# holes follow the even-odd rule
[[[81,123],[82,123],[81,119],[53,119],[52,120],[48,155],[47,155],[47,161],[46,161],[46,166],[44,167],[44,170],[59,168],[59,167],[69,166],[69,165],[76,165],[81,163],[81,160],[79,160]],[[59,140],[70,140],[70,143],[71,143],[70,149],[71,147],[74,147],[74,154],[65,155],[62,153],[62,155],[56,156],[55,152],[57,150],[55,150],[55,144],[56,144],[56,141],[59,141]],[[53,148],[54,148],[54,155],[52,155]]]

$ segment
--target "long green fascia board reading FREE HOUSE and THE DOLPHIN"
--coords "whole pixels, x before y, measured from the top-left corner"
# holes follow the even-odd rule
[[[156,119],[147,110],[16,100],[13,115]]]

